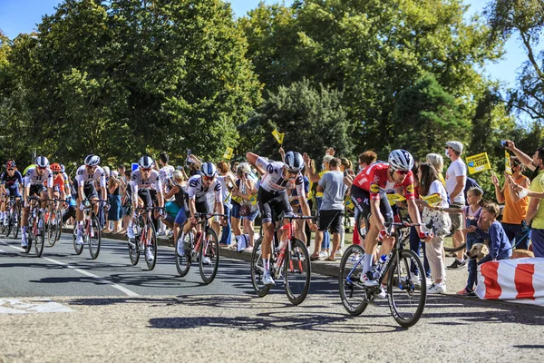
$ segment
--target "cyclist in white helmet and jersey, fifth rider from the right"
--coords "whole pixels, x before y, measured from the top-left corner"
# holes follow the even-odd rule
[[[73,180],[74,194],[77,196],[78,209],[75,211],[75,219],[77,221],[77,237],[75,242],[78,245],[83,245],[83,210],[85,208],[85,199],[89,201],[98,200],[98,192],[94,186],[96,181],[100,184],[102,201],[106,200],[106,175],[102,167],[99,166],[100,157],[98,155],[89,154],[85,158],[83,165],[75,172]],[[61,168],[62,170],[62,168]],[[98,215],[98,204],[94,205],[94,212]],[[107,209],[108,206],[106,205]]]

